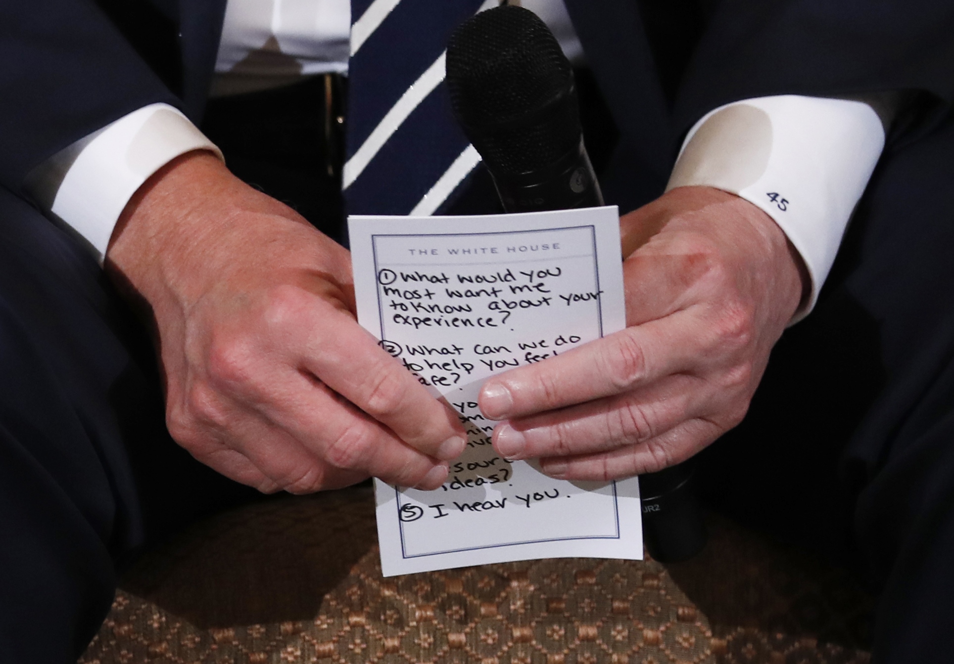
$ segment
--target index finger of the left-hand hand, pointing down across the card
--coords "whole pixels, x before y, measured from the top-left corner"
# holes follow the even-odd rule
[[[350,315],[330,306],[319,315],[304,358],[308,371],[415,450],[445,460],[463,452],[467,433],[454,412]]]

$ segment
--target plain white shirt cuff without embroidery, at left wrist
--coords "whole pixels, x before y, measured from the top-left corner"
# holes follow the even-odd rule
[[[177,156],[194,150],[222,158],[185,115],[167,104],[152,104],[53,155],[27,187],[47,191],[36,196],[40,205],[84,237],[102,261],[116,221],[135,191]],[[57,188],[55,180],[60,178]]]

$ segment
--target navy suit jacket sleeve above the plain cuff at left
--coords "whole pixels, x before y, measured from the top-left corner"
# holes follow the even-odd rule
[[[0,0],[0,186],[131,111],[180,106],[92,0]]]

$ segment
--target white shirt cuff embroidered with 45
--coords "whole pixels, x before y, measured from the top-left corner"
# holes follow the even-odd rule
[[[729,191],[775,219],[811,277],[811,312],[884,148],[881,118],[860,101],[781,95],[719,107],[683,143],[666,190]]]

